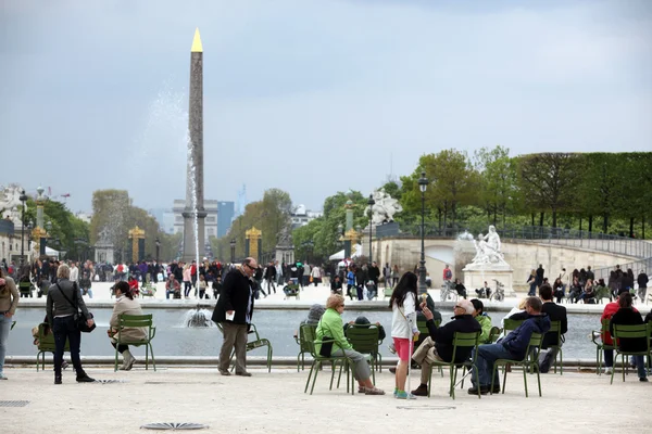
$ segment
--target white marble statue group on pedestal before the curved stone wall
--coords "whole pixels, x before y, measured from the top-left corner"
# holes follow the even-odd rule
[[[462,270],[464,272],[464,286],[473,293],[476,288],[482,288],[485,282],[492,286],[493,282],[503,284],[506,296],[516,296],[512,284],[512,275],[514,270],[505,261],[501,252],[500,237],[493,226],[489,226],[489,232],[486,235],[479,233],[477,238],[468,232],[462,233],[457,240],[473,241],[475,256],[471,264]]]

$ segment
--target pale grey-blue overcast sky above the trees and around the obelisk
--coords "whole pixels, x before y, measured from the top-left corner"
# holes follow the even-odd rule
[[[184,199],[197,26],[205,199],[246,183],[249,201],[276,187],[321,208],[446,148],[652,150],[652,1],[0,5],[0,184],[73,210],[98,189]]]

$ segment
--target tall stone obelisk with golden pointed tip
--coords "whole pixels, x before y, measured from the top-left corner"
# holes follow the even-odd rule
[[[203,205],[203,49],[199,28],[195,30],[190,49],[190,94],[188,105],[188,171],[184,216],[183,259],[198,261],[204,255]]]

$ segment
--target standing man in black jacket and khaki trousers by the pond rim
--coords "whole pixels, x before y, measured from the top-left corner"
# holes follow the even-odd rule
[[[255,259],[248,257],[239,268],[227,273],[213,311],[212,319],[222,326],[224,333],[217,367],[222,375],[230,375],[228,362],[235,347],[236,375],[251,376],[247,371],[247,332],[253,315],[255,282],[252,278],[256,268]]]

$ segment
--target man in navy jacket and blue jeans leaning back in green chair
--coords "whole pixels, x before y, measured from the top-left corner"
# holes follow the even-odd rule
[[[525,299],[525,309],[529,318],[523,321],[521,326],[496,344],[485,344],[478,346],[476,359],[478,376],[475,371],[472,374],[473,387],[468,390],[471,395],[478,393],[486,395],[491,386],[491,373],[493,363],[498,359],[523,360],[525,352],[529,345],[532,333],[546,333],[550,329],[550,319],[548,315],[541,314],[542,303],[538,297],[527,297]],[[498,370],[496,371],[492,393],[500,392],[500,381]]]

